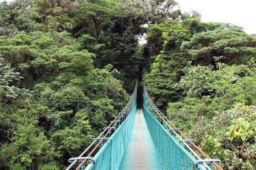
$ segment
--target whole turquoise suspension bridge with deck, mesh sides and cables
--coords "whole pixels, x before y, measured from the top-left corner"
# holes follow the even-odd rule
[[[155,106],[146,85],[142,108],[137,107],[136,83],[123,110],[84,152],[69,159],[66,170],[222,169],[219,159],[211,159],[193,141]]]

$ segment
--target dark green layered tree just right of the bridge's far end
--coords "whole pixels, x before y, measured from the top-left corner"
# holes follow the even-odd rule
[[[147,90],[156,101],[156,105],[161,109],[170,101],[175,101],[181,97],[176,83],[186,64],[186,59],[177,53],[158,55],[155,63],[151,65],[151,73],[145,76]],[[179,63],[179,64],[178,64]]]

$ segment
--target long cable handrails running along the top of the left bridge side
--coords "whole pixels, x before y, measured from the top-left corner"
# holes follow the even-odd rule
[[[111,135],[110,134],[110,131],[112,131],[115,126],[117,125],[117,122],[120,122],[120,119],[122,117],[122,122],[124,121],[124,119],[126,119],[126,117],[124,116],[124,114],[126,113],[126,111],[128,109],[130,109],[130,105],[132,104],[133,102],[133,99],[134,99],[134,95],[135,93],[137,92],[137,84],[138,82],[136,82],[136,85],[135,85],[135,88],[134,88],[134,91],[133,91],[133,95],[132,97],[130,98],[130,100],[128,101],[128,103],[126,104],[126,106],[123,108],[123,110],[115,117],[114,121],[111,121],[110,124],[107,126],[107,128],[104,129],[104,131],[97,137],[97,138],[101,138],[101,140],[99,141],[99,143],[91,150],[91,152],[86,156],[86,157],[90,157],[94,152],[95,150],[97,150],[97,148],[100,146],[100,144],[102,144],[102,142],[104,141],[104,138],[107,137],[107,135]],[[102,137],[102,135],[107,131],[107,133]],[[74,162],[72,162],[67,168],[66,170],[69,170],[71,169],[75,163],[78,161],[79,158],[82,158],[82,156],[98,141],[97,138],[78,156],[78,158],[76,158],[74,160]],[[87,161],[87,159],[84,159],[80,165],[78,165],[78,167],[76,168],[76,170],[79,170],[83,165],[84,163]]]

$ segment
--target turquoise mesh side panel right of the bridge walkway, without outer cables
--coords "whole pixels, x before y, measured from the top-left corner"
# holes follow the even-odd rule
[[[147,108],[146,108],[147,107]],[[147,95],[143,95],[143,113],[162,169],[206,169],[155,119]],[[150,111],[149,111],[149,110]]]

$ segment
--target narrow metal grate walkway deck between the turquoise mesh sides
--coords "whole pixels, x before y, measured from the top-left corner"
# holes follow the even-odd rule
[[[136,111],[130,139],[124,151],[119,169],[161,169],[142,109],[137,109]]]

